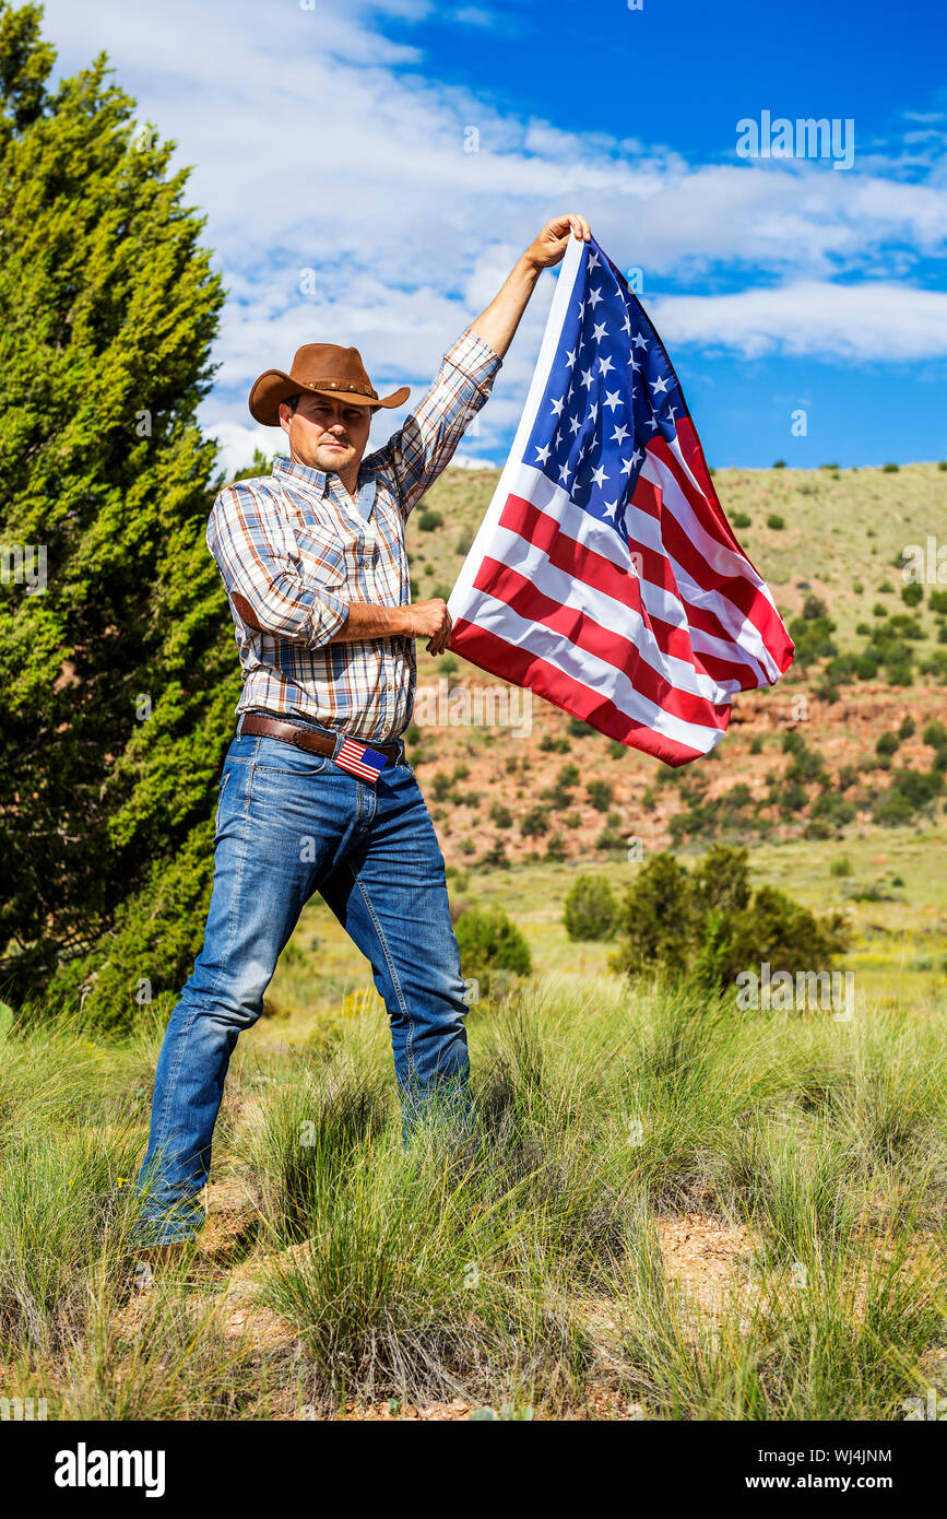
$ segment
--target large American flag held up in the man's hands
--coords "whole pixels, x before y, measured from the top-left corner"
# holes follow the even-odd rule
[[[671,766],[792,641],[716,498],[665,346],[569,238],[510,457],[448,603],[451,649]]]

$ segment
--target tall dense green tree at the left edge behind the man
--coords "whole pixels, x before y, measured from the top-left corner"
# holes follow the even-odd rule
[[[0,978],[134,1016],[203,928],[238,691],[197,406],[223,304],[173,143],[103,56],[55,88],[0,0],[0,501],[46,589],[0,586]]]

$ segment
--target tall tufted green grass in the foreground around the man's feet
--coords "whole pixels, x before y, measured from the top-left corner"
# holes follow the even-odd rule
[[[470,1013],[475,1124],[405,1150],[384,1018],[264,1019],[216,1147],[229,1276],[208,1246],[144,1291],[127,1177],[159,1030],[8,1031],[3,1393],[64,1419],[900,1419],[944,1343],[945,1025],[527,984]],[[736,1241],[713,1300],[668,1255],[681,1217]]]

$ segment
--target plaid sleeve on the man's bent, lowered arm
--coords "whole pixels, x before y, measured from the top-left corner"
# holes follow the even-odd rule
[[[226,486],[211,510],[208,548],[234,620],[252,632],[320,649],[345,624],[348,603],[299,573],[267,527],[264,503],[246,485]]]

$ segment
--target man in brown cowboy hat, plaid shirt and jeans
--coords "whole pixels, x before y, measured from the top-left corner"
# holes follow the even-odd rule
[[[243,691],[220,779],[203,948],[155,1077],[138,1238],[193,1240],[237,1036],[263,1012],[276,960],[319,892],[367,955],[384,998],[405,1130],[437,1095],[466,1104],[464,983],[443,857],[399,735],[414,639],[440,655],[445,602],[410,603],[404,527],[484,404],[542,269],[580,216],[543,226],[486,311],[445,354],[405,425],[364,457],[384,399],[354,348],[300,348],[269,369],[250,412],[288,457],[220,492],[208,545],[228,592]],[[367,747],[366,747],[367,746]]]

